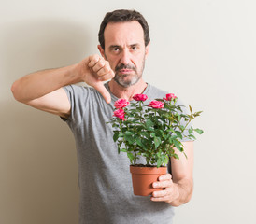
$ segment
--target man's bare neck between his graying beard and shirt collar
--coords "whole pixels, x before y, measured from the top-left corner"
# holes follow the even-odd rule
[[[109,81],[108,84],[113,95],[128,101],[132,101],[135,94],[142,94],[147,87],[147,83],[142,78],[135,85],[127,88],[121,87],[114,79]]]

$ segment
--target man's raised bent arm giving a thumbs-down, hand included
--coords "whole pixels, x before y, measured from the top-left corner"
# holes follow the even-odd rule
[[[103,81],[112,77],[114,72],[109,63],[98,55],[92,55],[80,63],[21,77],[13,83],[11,91],[21,103],[68,118],[70,103],[62,87],[84,81],[110,103],[111,98]]]

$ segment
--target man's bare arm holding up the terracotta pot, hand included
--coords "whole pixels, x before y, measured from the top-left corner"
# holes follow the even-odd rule
[[[171,158],[172,175],[161,175],[159,181],[153,183],[153,188],[164,188],[164,190],[154,191],[152,201],[179,206],[188,203],[192,198],[193,142],[184,142],[183,146],[188,159],[178,150],[176,151],[179,160]]]

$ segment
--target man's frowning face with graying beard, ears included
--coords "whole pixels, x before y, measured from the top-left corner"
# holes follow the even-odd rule
[[[141,25],[138,21],[108,23],[104,38],[105,50],[98,48],[115,72],[114,79],[124,88],[134,85],[142,77],[149,53]]]

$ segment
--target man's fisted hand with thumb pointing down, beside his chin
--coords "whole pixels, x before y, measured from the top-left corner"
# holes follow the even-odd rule
[[[82,80],[99,91],[109,104],[111,96],[104,86],[104,81],[115,76],[109,63],[103,57],[94,54],[78,63],[77,69]]]

